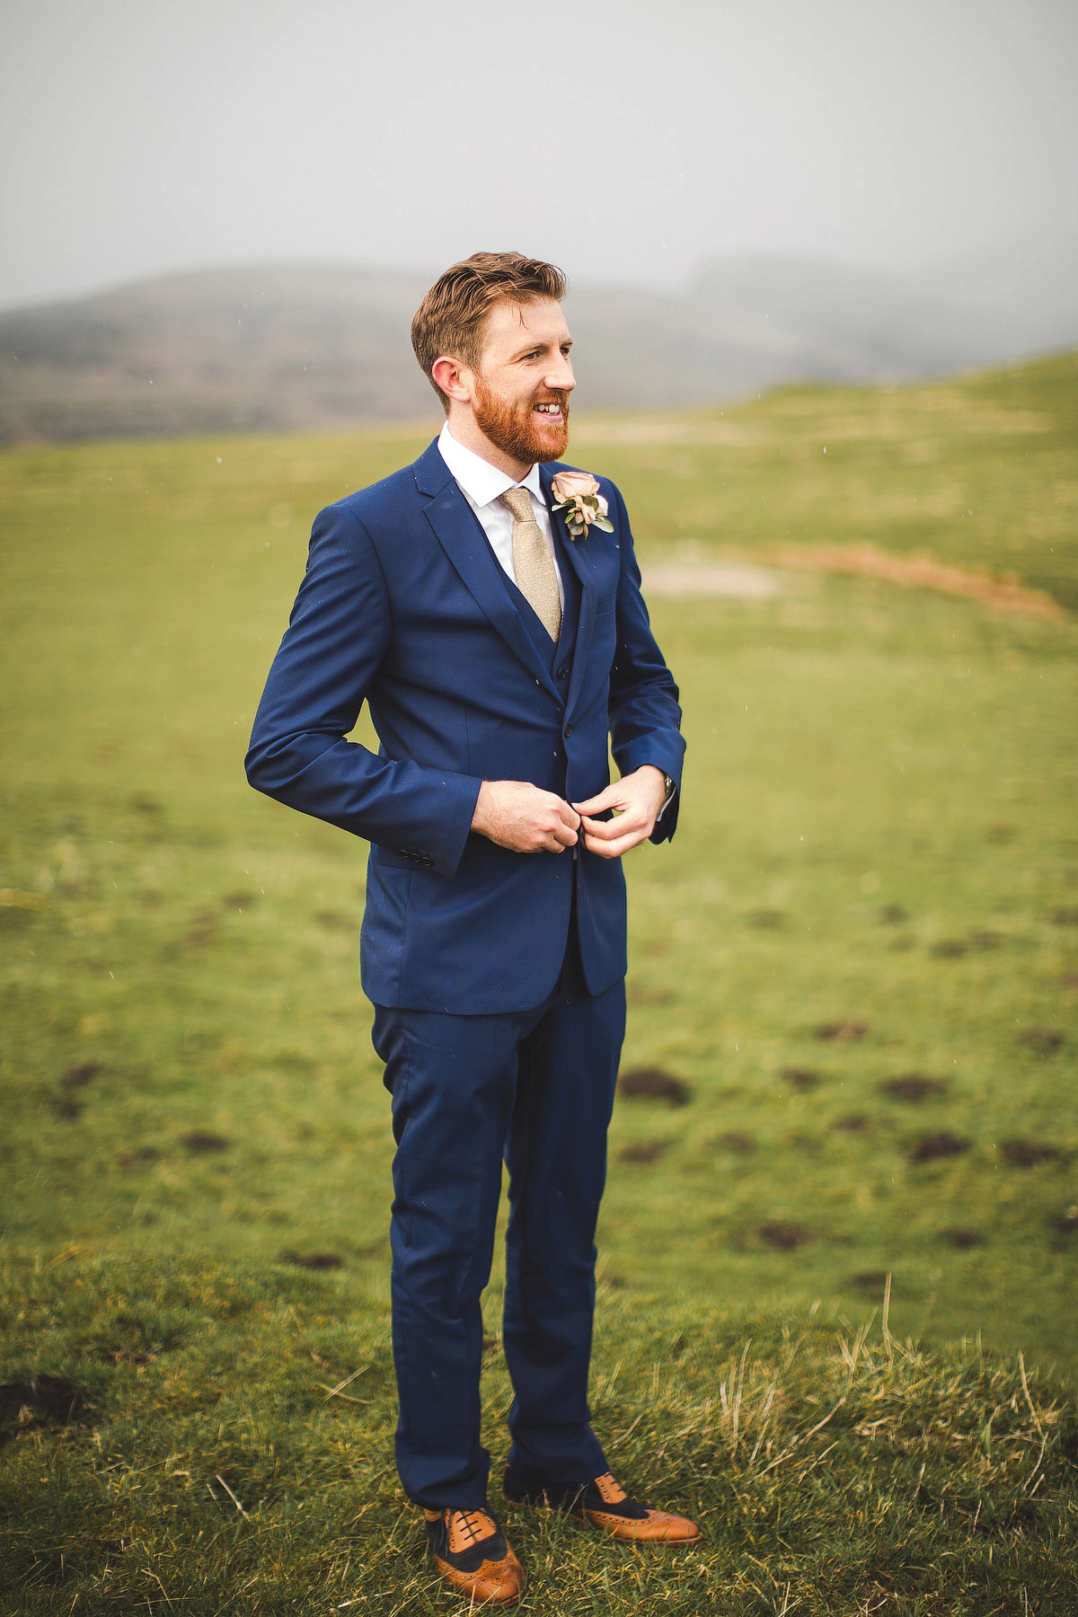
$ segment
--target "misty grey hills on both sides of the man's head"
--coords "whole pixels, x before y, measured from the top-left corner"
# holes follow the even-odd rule
[[[0,312],[0,440],[435,419],[407,335],[427,283],[251,265]],[[588,407],[929,377],[1078,343],[1078,241],[918,275],[722,257],[682,294],[580,286],[566,307]]]

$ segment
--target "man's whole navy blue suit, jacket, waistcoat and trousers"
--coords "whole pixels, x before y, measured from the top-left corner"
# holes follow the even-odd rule
[[[540,467],[550,501],[558,464]],[[247,776],[370,841],[362,985],[394,1135],[398,1463],[432,1509],[482,1504],[478,1298],[511,1169],[506,1353],[516,1470],[604,1470],[587,1426],[593,1231],[624,1030],[619,860],[516,854],[470,831],[483,779],[582,802],[643,763],[680,779],[677,687],[613,534],[553,514],[558,645],[432,445],[315,519]],[[378,754],[346,736],[367,702]],[[653,831],[674,831],[677,797]],[[474,1386],[472,1386],[474,1383]]]

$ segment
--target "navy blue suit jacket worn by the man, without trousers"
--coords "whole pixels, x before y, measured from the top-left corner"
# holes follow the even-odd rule
[[[540,467],[543,493],[561,466]],[[470,831],[483,779],[569,802],[653,763],[680,783],[674,684],[651,635],[621,495],[613,534],[571,540],[571,666],[537,645],[480,522],[432,446],[318,514],[307,572],[255,716],[247,779],[372,844],[360,938],[375,1004],[530,1009],[561,970],[575,888],[587,986],[625,972],[621,860],[514,854]],[[567,593],[575,600],[577,592]],[[546,652],[546,655],[545,655]],[[362,703],[378,754],[346,739]],[[653,833],[674,833],[677,797]]]

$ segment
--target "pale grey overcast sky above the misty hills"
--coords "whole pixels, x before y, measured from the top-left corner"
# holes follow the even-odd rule
[[[1076,0],[0,0],[0,304],[520,247],[677,286],[1078,233]]]

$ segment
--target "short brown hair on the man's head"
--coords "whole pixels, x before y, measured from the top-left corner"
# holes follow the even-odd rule
[[[482,357],[483,320],[499,298],[535,302],[566,296],[566,277],[554,264],[525,259],[522,252],[474,252],[453,264],[430,288],[412,320],[412,348],[432,388],[449,409],[449,399],[432,377],[441,354],[453,354],[475,369]]]

